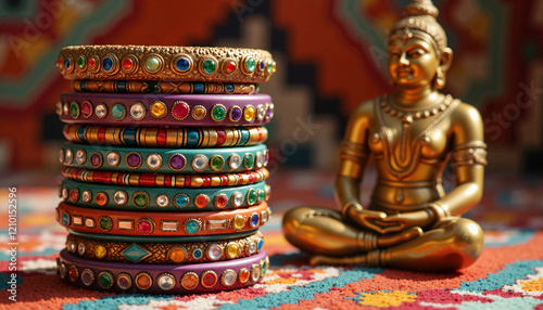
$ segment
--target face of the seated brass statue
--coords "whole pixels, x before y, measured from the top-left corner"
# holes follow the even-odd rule
[[[406,41],[394,38],[389,41],[388,54],[389,73],[396,86],[432,86],[440,61],[428,41],[417,37]]]

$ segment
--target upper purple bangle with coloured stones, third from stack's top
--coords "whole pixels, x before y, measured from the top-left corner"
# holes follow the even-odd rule
[[[264,125],[274,116],[267,94],[62,93],[64,122],[136,126]]]

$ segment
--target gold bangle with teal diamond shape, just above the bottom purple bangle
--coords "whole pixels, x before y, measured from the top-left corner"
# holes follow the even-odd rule
[[[98,241],[70,234],[66,249],[80,258],[112,262],[201,263],[255,255],[263,244],[260,232],[239,238],[191,243]]]

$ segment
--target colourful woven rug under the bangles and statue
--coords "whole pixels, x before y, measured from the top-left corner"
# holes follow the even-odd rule
[[[56,189],[17,188],[17,301],[9,299],[11,256],[3,212],[0,309],[543,309],[541,180],[490,178],[481,206],[471,214],[487,228],[481,258],[456,273],[430,274],[307,266],[307,257],[281,235],[281,212],[303,203],[331,205],[332,178],[275,176],[275,214],[264,229],[270,256],[264,281],[233,292],[187,296],[114,295],[61,283],[54,260],[66,233],[54,221]],[[7,202],[8,193],[3,186],[0,201]]]

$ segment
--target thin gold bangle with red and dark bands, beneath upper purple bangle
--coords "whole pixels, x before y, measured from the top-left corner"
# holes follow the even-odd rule
[[[62,131],[73,142],[144,147],[231,147],[264,143],[265,127],[127,127],[66,124]]]

